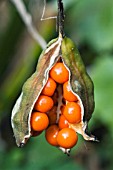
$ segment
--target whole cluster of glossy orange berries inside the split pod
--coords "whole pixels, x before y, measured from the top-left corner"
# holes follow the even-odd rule
[[[31,115],[32,136],[45,130],[47,142],[65,149],[76,145],[78,136],[70,124],[81,121],[78,98],[71,92],[69,71],[62,62],[57,62],[49,72]]]

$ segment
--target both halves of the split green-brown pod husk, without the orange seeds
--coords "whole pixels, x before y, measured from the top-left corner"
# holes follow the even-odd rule
[[[94,87],[86,72],[81,56],[71,39],[59,36],[48,43],[40,55],[35,73],[25,82],[22,93],[12,110],[11,123],[18,147],[31,137],[31,114],[48,78],[52,67],[61,61],[69,72],[71,92],[78,98],[81,108],[81,121],[69,123],[69,127],[81,134],[85,140],[95,141],[95,137],[87,134],[88,121],[94,110]],[[57,113],[59,114],[59,113]],[[64,153],[70,151],[59,147]]]

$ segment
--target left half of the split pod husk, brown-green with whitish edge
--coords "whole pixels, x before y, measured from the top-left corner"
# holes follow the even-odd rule
[[[52,40],[42,52],[36,72],[25,82],[11,116],[17,146],[22,147],[31,136],[30,118],[33,107],[48,80],[51,67],[59,59],[62,38]]]

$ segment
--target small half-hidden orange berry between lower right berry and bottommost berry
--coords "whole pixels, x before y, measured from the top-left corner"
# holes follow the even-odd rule
[[[60,116],[59,121],[58,121],[58,127],[60,129],[69,127],[68,121],[67,121],[67,119],[65,118],[64,115]]]

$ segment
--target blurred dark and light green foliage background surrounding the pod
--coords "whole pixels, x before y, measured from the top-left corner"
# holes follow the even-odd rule
[[[10,116],[25,80],[34,72],[42,51],[29,35],[10,1],[0,1],[0,169],[113,169],[113,1],[63,0],[65,33],[78,46],[95,86],[95,112],[89,122],[99,143],[79,136],[71,156],[50,146],[44,134],[22,149],[13,137]],[[57,37],[54,19],[40,21],[43,1],[25,0],[33,22],[48,42]],[[47,1],[45,16],[57,14],[56,0]]]

